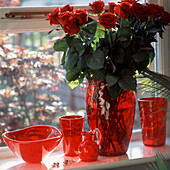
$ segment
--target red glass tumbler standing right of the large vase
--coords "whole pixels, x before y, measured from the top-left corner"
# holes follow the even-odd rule
[[[166,139],[168,102],[164,97],[138,99],[144,145],[161,146]]]

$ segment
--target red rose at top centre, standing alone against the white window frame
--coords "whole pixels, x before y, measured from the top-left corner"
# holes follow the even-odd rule
[[[101,0],[94,1],[93,4],[89,3],[89,6],[91,6],[94,14],[102,13],[104,10],[104,2]]]

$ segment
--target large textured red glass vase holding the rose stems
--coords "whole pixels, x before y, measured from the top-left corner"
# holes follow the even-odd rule
[[[136,99],[133,91],[123,91],[113,101],[107,84],[91,80],[86,93],[86,110],[90,130],[101,133],[99,154],[125,154],[132,135]]]

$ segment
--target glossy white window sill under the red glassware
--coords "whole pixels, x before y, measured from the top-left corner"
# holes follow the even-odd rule
[[[59,168],[52,169],[69,169],[69,168],[78,168],[78,169],[104,169],[104,168],[120,168],[127,167],[132,165],[138,165],[150,162],[154,160],[151,158],[156,154],[156,152],[161,152],[166,159],[170,159],[170,138],[166,139],[166,144],[160,147],[147,147],[144,146],[142,141],[132,141],[130,142],[129,149],[126,155],[114,156],[114,157],[104,157],[99,156],[98,161],[95,162],[82,162],[79,160],[79,157],[66,157],[64,156],[62,150],[53,152],[49,157],[47,157],[43,164],[26,164],[19,158],[5,158],[0,159],[0,169],[1,170],[47,170],[52,167],[54,162],[59,162]],[[0,155],[2,155],[0,151]],[[64,160],[74,159],[75,162],[69,163],[67,166],[63,165]],[[127,167],[128,169],[128,167]]]

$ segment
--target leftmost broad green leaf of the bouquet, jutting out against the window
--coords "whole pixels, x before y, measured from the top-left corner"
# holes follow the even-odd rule
[[[67,51],[67,49],[68,49],[68,44],[66,38],[57,40],[54,44],[55,51]]]

